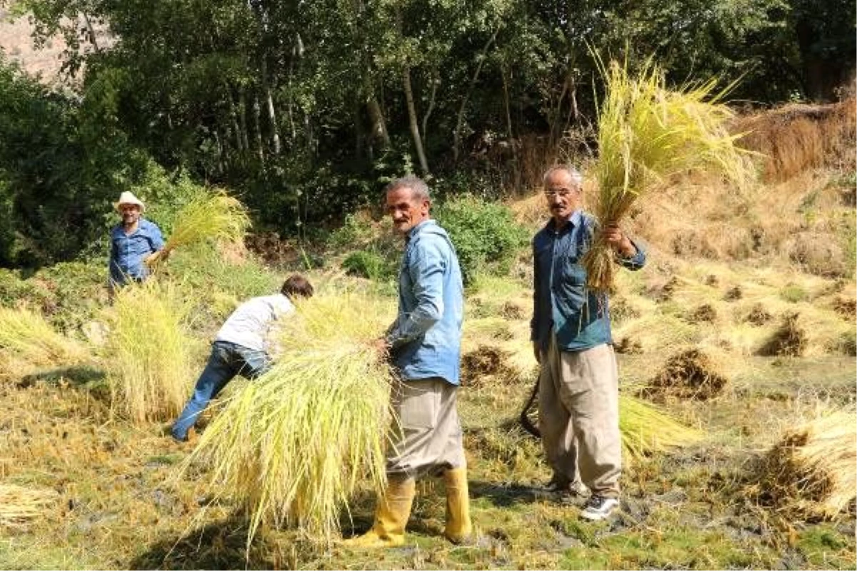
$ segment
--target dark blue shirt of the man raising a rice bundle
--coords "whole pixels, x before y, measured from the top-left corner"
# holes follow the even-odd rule
[[[586,271],[580,259],[589,249],[597,227],[596,219],[575,211],[559,231],[554,220],[533,238],[533,318],[530,340],[548,350],[550,333],[564,351],[582,351],[612,343],[607,294],[586,288]],[[634,244],[631,258],[616,258],[629,270],[645,264],[644,251]]]

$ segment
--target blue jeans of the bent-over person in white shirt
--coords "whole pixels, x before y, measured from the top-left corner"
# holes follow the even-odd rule
[[[215,341],[212,354],[208,357],[206,368],[196,381],[194,395],[172,425],[172,436],[177,440],[186,440],[188,431],[196,422],[208,402],[223,390],[237,375],[256,378],[266,372],[271,361],[264,351],[246,348],[226,341]]]

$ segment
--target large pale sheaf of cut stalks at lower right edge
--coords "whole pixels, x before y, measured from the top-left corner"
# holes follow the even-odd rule
[[[758,468],[755,494],[763,503],[838,514],[857,497],[857,413],[835,411],[786,431]]]

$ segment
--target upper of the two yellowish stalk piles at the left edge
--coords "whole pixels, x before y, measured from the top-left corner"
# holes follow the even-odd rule
[[[74,364],[84,349],[53,330],[39,313],[0,307],[0,354],[34,366]]]

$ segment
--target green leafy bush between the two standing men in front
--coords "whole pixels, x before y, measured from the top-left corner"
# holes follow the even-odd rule
[[[465,284],[482,271],[508,271],[515,251],[529,237],[506,206],[468,195],[448,200],[434,216],[452,239]]]

